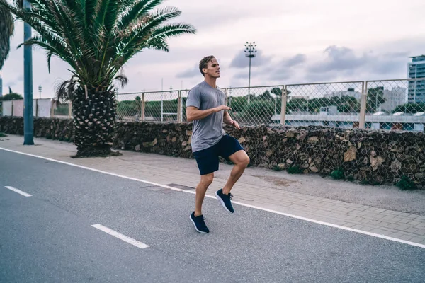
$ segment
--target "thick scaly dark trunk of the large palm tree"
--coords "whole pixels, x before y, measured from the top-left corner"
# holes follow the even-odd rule
[[[74,157],[111,156],[115,128],[115,90],[98,91],[79,87],[72,101],[74,115]]]

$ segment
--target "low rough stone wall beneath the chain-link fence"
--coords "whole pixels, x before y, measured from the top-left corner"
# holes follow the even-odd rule
[[[35,119],[36,137],[68,140],[72,122]],[[425,135],[422,132],[387,132],[327,127],[225,127],[239,139],[251,166],[329,175],[344,173],[348,180],[395,184],[402,176],[425,188]],[[193,158],[192,125],[186,123],[120,122],[115,149]],[[0,117],[0,132],[23,134],[23,119]]]

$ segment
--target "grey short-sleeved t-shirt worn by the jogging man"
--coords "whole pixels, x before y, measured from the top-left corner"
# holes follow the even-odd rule
[[[186,107],[194,106],[199,110],[215,108],[226,103],[226,96],[220,88],[212,88],[203,81],[188,93]],[[192,151],[208,149],[217,144],[226,134],[223,129],[224,110],[212,113],[201,120],[193,121]]]

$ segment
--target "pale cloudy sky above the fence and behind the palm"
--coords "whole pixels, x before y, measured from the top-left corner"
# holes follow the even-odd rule
[[[168,40],[169,52],[144,50],[123,67],[128,85],[120,93],[190,89],[203,81],[198,64],[217,57],[217,85],[248,86],[244,44],[256,42],[251,86],[329,81],[404,79],[410,56],[425,54],[423,0],[168,0],[197,33]],[[16,22],[11,53],[1,70],[3,92],[23,94],[23,24]],[[55,96],[69,66],[33,50],[33,96]],[[162,83],[163,82],[163,83]]]

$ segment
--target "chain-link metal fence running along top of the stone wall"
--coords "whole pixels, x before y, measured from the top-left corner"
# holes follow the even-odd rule
[[[241,125],[323,125],[424,132],[425,78],[300,83],[222,88],[229,114]],[[117,120],[186,121],[189,90],[120,93]],[[72,117],[71,103],[36,99],[34,115]],[[50,110],[47,108],[50,107]],[[40,109],[39,109],[40,108]],[[20,115],[23,100],[3,102],[2,115]],[[50,113],[50,114],[49,114]]]

